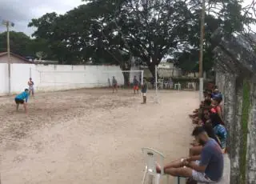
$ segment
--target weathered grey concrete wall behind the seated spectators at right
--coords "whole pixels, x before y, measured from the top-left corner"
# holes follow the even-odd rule
[[[256,54],[232,35],[218,29],[215,46],[216,84],[224,96],[228,130],[230,182],[256,183]]]

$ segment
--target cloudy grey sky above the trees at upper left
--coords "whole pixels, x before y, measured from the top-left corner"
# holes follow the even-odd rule
[[[251,0],[245,0],[247,5]],[[31,35],[33,28],[27,27],[32,18],[39,18],[43,14],[56,12],[65,14],[66,11],[82,4],[82,0],[0,0],[0,32],[6,28],[2,26],[2,19],[14,22],[15,31]]]

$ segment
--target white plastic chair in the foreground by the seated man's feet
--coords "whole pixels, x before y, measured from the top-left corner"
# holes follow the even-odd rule
[[[142,148],[142,154],[144,156],[144,159],[146,161],[146,167],[144,171],[144,176],[142,180],[142,184],[145,183],[147,175],[154,177],[154,184],[159,184],[161,177],[166,177],[166,184],[169,182],[169,174],[164,174],[163,170],[163,160],[164,156],[162,153],[158,152],[157,150],[154,150],[152,148],[144,147]],[[156,162],[161,166],[161,174],[158,174],[156,171]]]

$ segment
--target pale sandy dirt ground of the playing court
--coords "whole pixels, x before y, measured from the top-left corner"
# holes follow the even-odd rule
[[[142,182],[142,147],[188,154],[198,93],[154,91],[148,103],[131,90],[67,90],[36,94],[29,115],[14,97],[0,98],[2,184]],[[171,182],[173,183],[173,182]]]

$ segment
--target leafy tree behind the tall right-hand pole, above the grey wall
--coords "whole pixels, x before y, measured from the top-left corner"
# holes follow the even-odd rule
[[[191,13],[194,16],[194,26],[190,30],[188,45],[184,50],[176,53],[176,62],[182,70],[198,71],[199,38],[202,14],[202,1],[189,2]],[[214,62],[214,47],[210,44],[210,36],[218,27],[222,27],[226,34],[245,34],[246,29],[255,23],[254,6],[242,7],[238,0],[206,1],[206,17],[204,30],[203,70],[210,70]],[[177,57],[178,56],[178,57]]]

